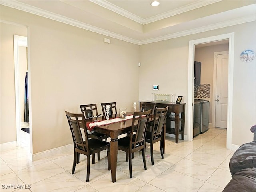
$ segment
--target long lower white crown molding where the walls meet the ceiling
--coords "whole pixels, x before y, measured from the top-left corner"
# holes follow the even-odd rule
[[[52,12],[48,12],[39,8],[35,8],[33,6],[29,6],[17,1],[0,1],[0,4],[4,5],[4,6],[8,6],[8,7],[12,7],[18,10],[22,10],[25,12],[29,12],[32,14],[36,14],[38,16],[42,16],[45,18],[49,18],[52,20],[56,20],[58,22],[62,22],[65,24],[69,24],[72,26],[76,26],[85,30],[89,30],[92,32],[96,32],[98,34],[102,34],[102,35],[106,35],[112,38],[116,38],[119,40],[123,40],[126,42],[130,42],[133,44],[137,44],[137,45],[143,45],[143,44],[148,44],[148,43],[153,43],[153,42],[158,42],[158,41],[162,41],[162,40],[168,40],[168,39],[172,39],[172,38],[177,38],[177,37],[181,37],[181,36],[186,36],[186,35],[191,35],[191,34],[196,34],[196,33],[200,33],[200,32],[205,32],[205,31],[209,31],[209,30],[214,30],[214,29],[218,29],[218,28],[223,28],[223,27],[227,27],[227,26],[232,26],[232,25],[237,25],[237,24],[242,24],[242,23],[246,23],[246,22],[251,22],[251,21],[255,21],[256,18],[255,16],[248,16],[248,17],[244,17],[244,18],[238,18],[238,19],[234,19],[234,20],[229,20],[226,22],[220,22],[217,24],[213,24],[213,25],[208,25],[208,26],[204,26],[204,27],[200,27],[200,28],[194,28],[191,30],[185,30],[182,32],[177,32],[177,33],[173,33],[173,34],[169,34],[169,35],[165,35],[165,36],[160,36],[157,38],[151,38],[148,40],[135,40],[132,38],[128,38],[126,36],[122,36],[120,34],[116,34],[114,32],[110,32],[108,30],[104,30],[95,26],[91,26],[88,24],[84,24],[82,22],[78,22],[77,20],[73,20],[58,14],[54,14]]]

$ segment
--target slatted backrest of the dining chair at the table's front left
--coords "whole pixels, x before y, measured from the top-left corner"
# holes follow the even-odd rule
[[[73,138],[74,147],[83,151],[88,151],[88,134],[87,131],[80,126],[83,125],[84,128],[86,128],[85,118],[84,114],[73,114],[65,111],[68,124],[70,127],[70,131]],[[81,129],[84,130],[84,137],[82,135]]]

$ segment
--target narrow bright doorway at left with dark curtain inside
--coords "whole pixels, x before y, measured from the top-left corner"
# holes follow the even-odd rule
[[[24,102],[25,76],[28,76],[27,47],[27,37],[14,35],[14,77],[17,146],[20,146],[21,143],[22,145],[30,146],[30,135],[28,134],[28,113],[25,113],[28,108],[26,108],[26,102]]]

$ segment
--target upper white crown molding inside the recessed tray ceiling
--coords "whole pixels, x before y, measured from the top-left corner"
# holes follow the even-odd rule
[[[196,8],[200,8],[200,7],[203,7],[203,6],[206,6],[206,5],[210,5],[210,4],[219,2],[220,0],[199,1],[199,2],[189,4],[189,5],[186,5],[186,6],[182,6],[180,8],[176,8],[172,11],[168,11],[168,12],[165,12],[163,14],[159,14],[157,16],[150,17],[150,18],[147,18],[147,19],[143,19],[139,16],[136,16],[136,15],[134,15],[134,14],[132,14],[132,13],[130,13],[130,12],[128,12],[128,11],[126,11],[126,10],[124,10],[124,9],[122,9],[122,8],[112,4],[112,3],[110,3],[110,2],[107,2],[105,0],[101,0],[101,1],[99,1],[99,0],[90,0],[90,1],[106,8],[106,9],[114,11],[117,14],[125,16],[125,17],[127,17],[131,20],[134,20],[134,21],[144,25],[144,24],[152,23],[152,22],[164,19],[164,18],[168,18],[170,16],[181,14],[181,13],[184,13],[184,12],[196,9]]]

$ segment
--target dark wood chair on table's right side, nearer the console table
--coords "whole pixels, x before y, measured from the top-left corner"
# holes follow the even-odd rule
[[[166,108],[156,108],[154,113],[154,121],[152,126],[150,126],[150,131],[146,131],[146,142],[150,143],[150,156],[151,164],[154,165],[153,157],[153,143],[160,142],[160,152],[162,159],[164,158],[163,153],[163,128],[166,114],[168,111],[168,106]]]

